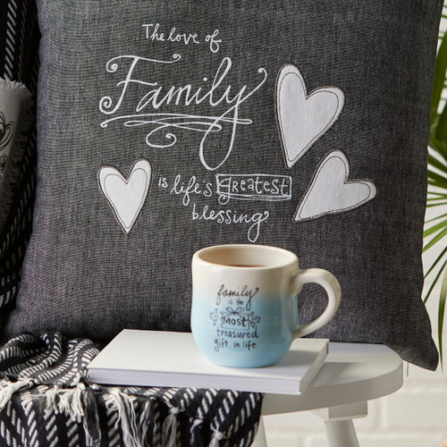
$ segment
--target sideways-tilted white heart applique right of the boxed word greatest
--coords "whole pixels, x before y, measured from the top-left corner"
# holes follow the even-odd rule
[[[294,220],[299,222],[341,213],[375,198],[377,190],[372,181],[349,180],[349,176],[350,162],[342,151],[334,150],[327,154],[316,168]]]

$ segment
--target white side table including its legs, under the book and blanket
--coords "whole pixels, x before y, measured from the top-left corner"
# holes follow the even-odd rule
[[[331,342],[329,354],[308,389],[299,396],[266,394],[263,415],[314,410],[325,421],[330,447],[358,447],[352,419],[367,416],[367,401],[401,388],[402,360],[381,344]],[[264,423],[254,447],[266,447]]]

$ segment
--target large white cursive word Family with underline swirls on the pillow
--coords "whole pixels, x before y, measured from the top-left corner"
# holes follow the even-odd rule
[[[235,87],[230,81],[234,79],[232,59],[223,57],[215,73],[200,76],[195,85],[192,80],[181,86],[166,85],[169,71],[181,71],[182,63],[181,55],[177,54],[165,60],[139,55],[119,55],[110,59],[105,65],[107,72],[122,74],[114,80],[114,93],[99,101],[100,112],[111,115],[101,122],[101,127],[116,121],[122,121],[126,127],[149,126],[152,130],[146,135],[146,143],[150,148],[172,148],[178,140],[173,131],[198,132],[202,134],[198,143],[200,162],[207,170],[215,171],[231,155],[238,126],[252,123],[248,118],[240,118],[240,106],[265,84],[267,72],[259,68],[260,80]],[[138,98],[137,102],[131,100],[134,97]],[[197,110],[197,105],[207,107],[207,113],[188,113],[188,107],[194,106]],[[164,107],[169,107],[169,112],[164,112]],[[209,114],[210,107],[216,113]],[[179,113],[173,113],[177,108],[181,108]],[[228,142],[222,146],[218,134],[226,129]],[[215,146],[212,144],[214,136]],[[208,139],[211,139],[209,144]],[[217,149],[222,155],[212,164],[209,160]]]

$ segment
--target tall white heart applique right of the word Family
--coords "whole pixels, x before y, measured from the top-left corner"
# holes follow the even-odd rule
[[[276,114],[285,163],[291,168],[328,131],[342,113],[344,93],[320,87],[308,94],[299,69],[288,63],[276,80]]]

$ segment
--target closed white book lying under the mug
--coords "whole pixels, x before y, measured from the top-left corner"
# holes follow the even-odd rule
[[[297,339],[271,367],[219,367],[198,350],[192,333],[124,329],[88,369],[98,384],[300,394],[325,361],[328,347],[326,339]]]

